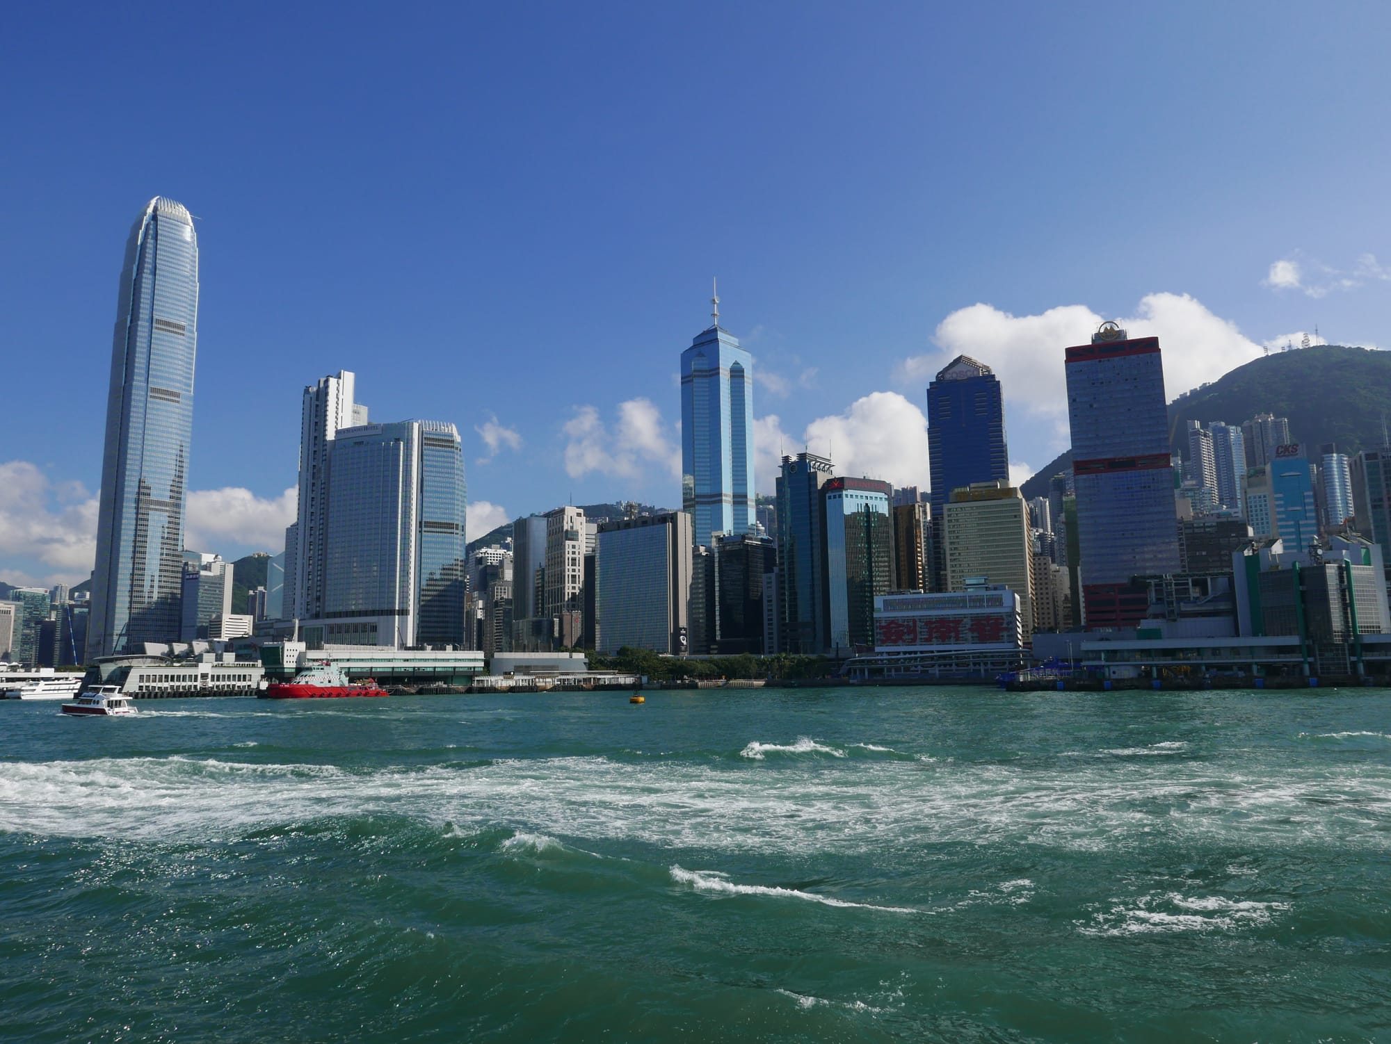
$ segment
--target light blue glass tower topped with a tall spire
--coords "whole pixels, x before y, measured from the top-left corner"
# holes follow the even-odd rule
[[[754,357],[715,323],[682,352],[682,510],[696,544],[754,527]]]

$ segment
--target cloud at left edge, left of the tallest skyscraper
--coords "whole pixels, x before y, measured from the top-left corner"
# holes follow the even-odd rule
[[[26,460],[0,463],[0,559],[7,582],[78,584],[96,560],[97,499],[81,482],[50,482]],[[28,569],[18,563],[32,563]],[[35,566],[51,571],[40,573]]]

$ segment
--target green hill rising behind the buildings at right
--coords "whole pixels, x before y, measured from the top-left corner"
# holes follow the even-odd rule
[[[1319,345],[1256,359],[1168,405],[1173,448],[1188,455],[1188,421],[1241,424],[1257,413],[1289,418],[1289,434],[1317,453],[1335,442],[1356,453],[1383,441],[1391,423],[1391,352]],[[1072,463],[1061,453],[1022,485],[1025,498],[1046,496],[1049,480]]]

